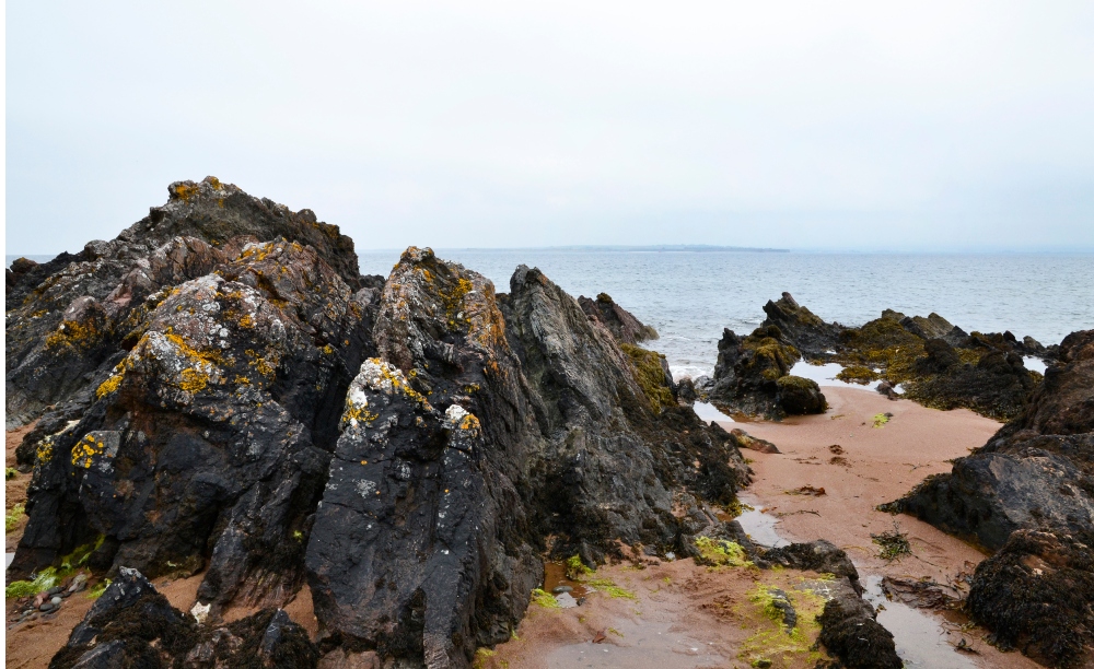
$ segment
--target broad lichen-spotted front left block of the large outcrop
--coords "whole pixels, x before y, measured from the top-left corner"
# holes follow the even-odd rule
[[[371,347],[373,294],[279,240],[142,300],[131,350],[96,372],[74,424],[35,448],[10,573],[105,537],[93,556],[105,567],[207,566],[205,602],[283,602],[302,583],[342,398]]]

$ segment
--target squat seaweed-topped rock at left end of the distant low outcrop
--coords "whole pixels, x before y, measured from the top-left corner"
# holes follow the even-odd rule
[[[775,325],[757,328],[745,338],[726,329],[718,342],[718,363],[708,398],[723,411],[772,419],[823,413],[828,404],[819,386],[790,374],[800,357],[798,349]]]

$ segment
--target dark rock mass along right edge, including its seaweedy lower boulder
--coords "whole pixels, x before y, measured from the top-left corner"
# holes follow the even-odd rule
[[[887,508],[998,550],[970,613],[1003,645],[1075,661],[1094,644],[1094,330],[1063,340],[1022,415]]]

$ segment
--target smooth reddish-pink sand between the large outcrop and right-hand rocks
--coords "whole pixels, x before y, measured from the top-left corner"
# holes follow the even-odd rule
[[[775,531],[792,541],[827,539],[847,551],[863,583],[881,576],[932,578],[967,592],[962,574],[970,574],[987,555],[950,535],[906,515],[875,509],[903,496],[930,474],[950,471],[946,460],[982,446],[1000,423],[967,410],[938,411],[909,400],[889,400],[876,392],[825,386],[829,409],[823,415],[788,419],[781,423],[724,423],[772,442],[780,454],[746,451],[756,473],[742,501],[764,507],[778,523]],[[892,413],[875,427],[877,414]],[[805,488],[825,494],[788,494]],[[893,562],[878,556],[871,535],[894,527],[907,532],[911,555]],[[880,600],[884,601],[884,599]],[[888,607],[896,610],[898,607]],[[980,655],[964,655],[980,667],[1038,665],[1017,653],[1002,654],[982,641],[984,630],[962,633],[957,615],[948,620],[927,613],[950,634],[950,645],[964,637]],[[878,619],[886,624],[894,614]],[[898,621],[894,621],[898,623]]]

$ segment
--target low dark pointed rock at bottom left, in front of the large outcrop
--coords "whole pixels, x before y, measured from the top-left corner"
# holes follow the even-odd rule
[[[211,630],[172,607],[137,570],[123,567],[50,669],[315,667],[318,652],[284,611],[267,609]]]

